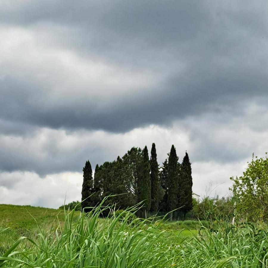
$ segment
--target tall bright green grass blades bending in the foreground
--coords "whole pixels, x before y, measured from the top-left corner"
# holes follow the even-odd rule
[[[161,221],[135,218],[137,207],[100,220],[109,209],[102,205],[75,220],[74,210],[65,211],[63,225],[21,237],[0,267],[268,267],[266,230],[225,224],[212,232],[200,222],[199,232],[183,237]]]

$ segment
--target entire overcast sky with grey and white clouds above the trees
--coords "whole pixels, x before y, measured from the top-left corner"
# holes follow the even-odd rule
[[[0,0],[0,203],[80,200],[89,159],[187,150],[220,196],[268,151],[268,4]]]

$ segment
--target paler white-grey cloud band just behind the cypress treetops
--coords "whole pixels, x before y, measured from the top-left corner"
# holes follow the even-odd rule
[[[8,133],[0,135],[0,170],[30,171],[42,177],[57,172],[81,172],[87,159],[94,167],[123,156],[132,146],[150,147],[152,142],[156,143],[159,164],[167,157],[171,144],[177,148],[179,161],[187,150],[192,163],[246,163],[253,152],[263,156],[268,148],[267,109],[263,121],[258,121],[258,125],[263,125],[261,129],[256,127],[260,109],[252,106],[248,109],[250,115],[245,118],[228,113],[207,114],[175,121],[168,128],[151,125],[124,134],[48,128]]]

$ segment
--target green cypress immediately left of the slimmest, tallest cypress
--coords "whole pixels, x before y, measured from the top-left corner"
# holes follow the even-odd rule
[[[143,149],[143,161],[141,163],[141,177],[139,178],[139,201],[144,201],[144,212],[147,217],[147,211],[151,208],[151,177],[150,163],[147,146]]]

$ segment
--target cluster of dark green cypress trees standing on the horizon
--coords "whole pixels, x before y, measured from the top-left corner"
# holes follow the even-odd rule
[[[95,168],[94,178],[89,161],[83,168],[82,208],[85,212],[96,206],[104,197],[125,209],[142,202],[144,216],[148,211],[173,211],[179,209],[186,214],[192,209],[192,176],[188,154],[178,162],[174,145],[168,159],[160,168],[157,162],[155,144],[151,157],[147,146],[133,147],[122,158],[105,162]]]

